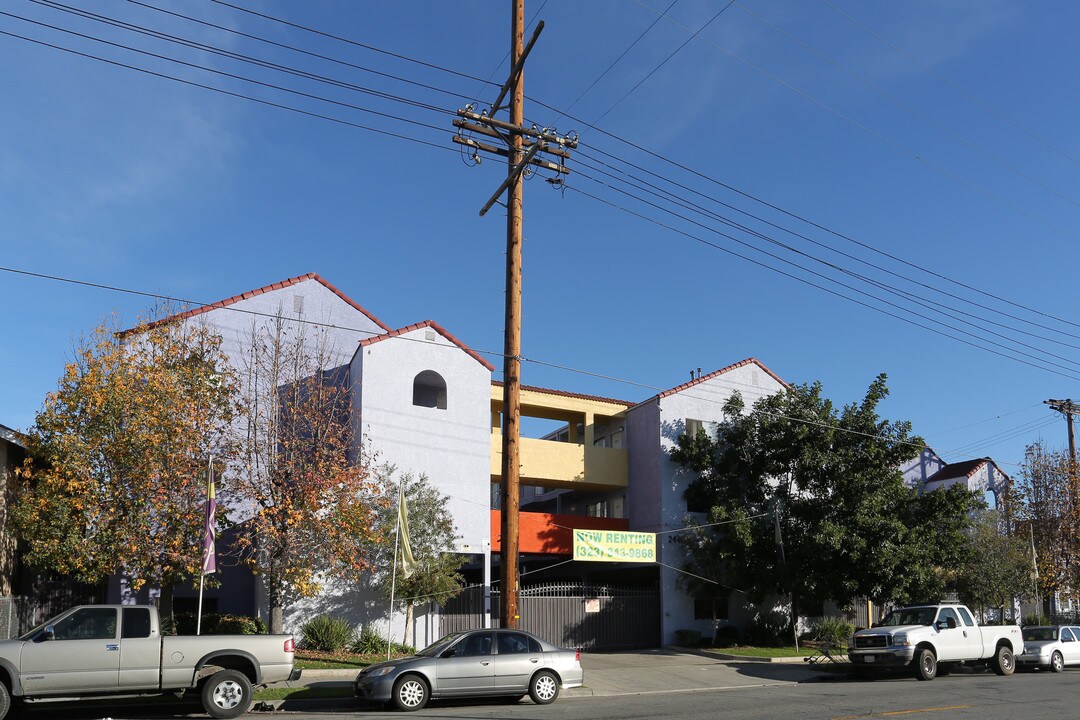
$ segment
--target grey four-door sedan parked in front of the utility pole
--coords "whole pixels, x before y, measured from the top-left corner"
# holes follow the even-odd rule
[[[583,682],[580,651],[522,630],[484,629],[454,633],[411,657],[366,667],[353,690],[363,701],[419,710],[429,699],[445,697],[502,696],[516,703],[528,694],[546,705],[562,688]]]

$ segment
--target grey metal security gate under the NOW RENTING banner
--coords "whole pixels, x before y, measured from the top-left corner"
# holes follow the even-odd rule
[[[660,646],[660,592],[656,586],[543,583],[517,595],[521,628],[548,642],[584,650]],[[491,623],[499,626],[499,593],[491,592]],[[443,635],[484,626],[484,588],[473,587],[442,610]]]

